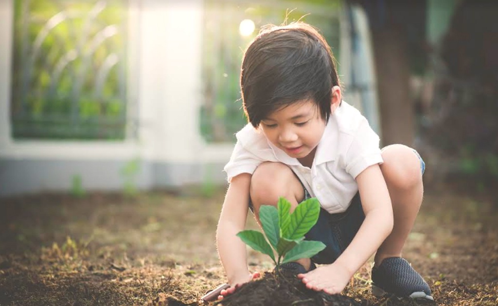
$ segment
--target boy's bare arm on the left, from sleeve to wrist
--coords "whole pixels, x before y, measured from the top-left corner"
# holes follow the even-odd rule
[[[232,287],[249,282],[246,244],[237,237],[244,230],[249,207],[251,175],[240,174],[230,183],[221,210],[216,233],[216,243],[228,282]]]

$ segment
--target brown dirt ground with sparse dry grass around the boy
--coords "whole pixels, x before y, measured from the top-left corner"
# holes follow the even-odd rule
[[[202,305],[202,295],[226,282],[215,247],[223,196],[1,199],[0,306]],[[404,257],[427,280],[436,305],[498,305],[496,201],[426,190]],[[248,227],[256,228],[251,216]],[[248,252],[253,271],[273,268]],[[370,295],[370,264],[343,293],[370,305],[409,305]]]

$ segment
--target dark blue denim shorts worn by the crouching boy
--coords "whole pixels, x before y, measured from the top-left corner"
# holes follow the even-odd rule
[[[425,163],[418,152],[413,151],[420,159],[420,171],[424,174]],[[304,189],[304,200],[310,198],[310,194]],[[250,201],[249,208],[252,211],[252,203]],[[344,212],[331,214],[321,208],[316,224],[305,235],[305,239],[321,241],[326,247],[320,253],[313,256],[311,260],[317,264],[333,263],[349,246],[358,229],[360,229],[363,220],[365,220],[365,214],[360,201],[360,193],[356,193],[351,201],[351,205]]]

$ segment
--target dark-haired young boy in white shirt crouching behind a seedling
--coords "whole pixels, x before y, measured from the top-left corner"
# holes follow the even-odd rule
[[[218,252],[231,287],[249,282],[244,230],[248,207],[279,197],[316,197],[317,224],[306,239],[326,248],[284,265],[306,287],[341,293],[375,253],[374,295],[432,300],[423,278],[401,258],[422,202],[424,163],[403,145],[379,149],[360,112],[342,101],[330,47],[312,26],[297,22],[263,28],[244,54],[241,89],[249,124],[225,166],[230,186],[217,230]],[[315,263],[324,264],[316,268]]]

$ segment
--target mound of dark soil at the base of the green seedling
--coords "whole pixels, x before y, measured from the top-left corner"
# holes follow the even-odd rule
[[[216,305],[223,306],[367,306],[368,301],[309,290],[289,271],[266,272],[263,277],[241,286]]]

